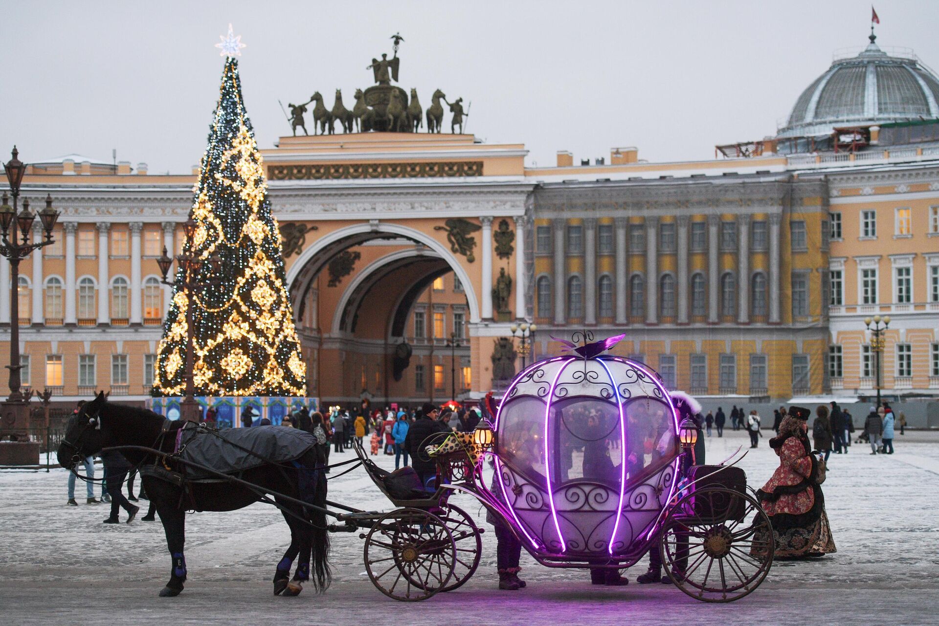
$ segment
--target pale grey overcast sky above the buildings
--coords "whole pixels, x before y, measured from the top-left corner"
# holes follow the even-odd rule
[[[870,3],[780,2],[41,2],[0,0],[0,159],[75,152],[187,173],[206,145],[234,25],[259,144],[289,134],[277,100],[319,91],[346,107],[391,55],[424,108],[434,89],[472,102],[467,131],[524,143],[528,163],[608,156],[711,159],[714,145],[774,134],[841,47],[863,46]],[[939,2],[875,4],[878,44],[939,67]],[[445,118],[449,129],[450,115]],[[312,120],[307,127],[313,130]]]

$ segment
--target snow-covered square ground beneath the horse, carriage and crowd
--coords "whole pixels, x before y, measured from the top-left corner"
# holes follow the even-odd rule
[[[777,457],[761,440],[743,462],[762,485]],[[716,463],[746,434],[707,439]],[[549,570],[523,554],[529,587],[496,587],[495,537],[484,536],[479,571],[464,587],[423,603],[398,603],[364,575],[358,534],[332,536],[333,584],[322,595],[275,597],[270,578],[288,543],[279,511],[255,504],[188,518],[189,580],[177,598],[158,598],[169,575],[162,526],[105,526],[109,505],[67,507],[67,474],[0,473],[0,623],[20,624],[816,624],[939,623],[939,434],[897,436],[896,454],[870,456],[855,444],[832,455],[824,484],[838,554],[777,562],[762,587],[730,604],[705,604],[664,585],[592,587],[586,572]],[[347,452],[345,457],[350,457]],[[333,454],[336,462],[344,455]],[[393,457],[378,463],[393,467]],[[85,485],[76,485],[79,502]],[[330,498],[389,509],[361,469],[330,483]],[[454,503],[483,513],[467,496]],[[146,502],[141,502],[146,505]],[[122,519],[124,513],[121,513]]]

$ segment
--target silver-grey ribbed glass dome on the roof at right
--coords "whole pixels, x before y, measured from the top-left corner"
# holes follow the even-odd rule
[[[802,92],[777,137],[830,134],[854,124],[939,117],[939,78],[916,56],[891,56],[871,38],[856,56],[832,63]]]

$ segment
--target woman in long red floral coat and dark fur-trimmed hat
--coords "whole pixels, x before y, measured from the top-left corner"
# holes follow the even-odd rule
[[[819,460],[808,442],[810,414],[808,408],[793,406],[782,420],[779,435],[769,440],[779,466],[757,491],[773,523],[777,557],[822,557],[837,552],[817,480]],[[754,537],[754,553],[759,552],[760,541]]]

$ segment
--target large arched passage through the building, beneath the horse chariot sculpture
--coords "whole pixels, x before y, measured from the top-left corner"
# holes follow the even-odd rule
[[[417,405],[471,387],[466,287],[421,242],[359,233],[320,246],[291,295],[311,390],[323,405]]]

